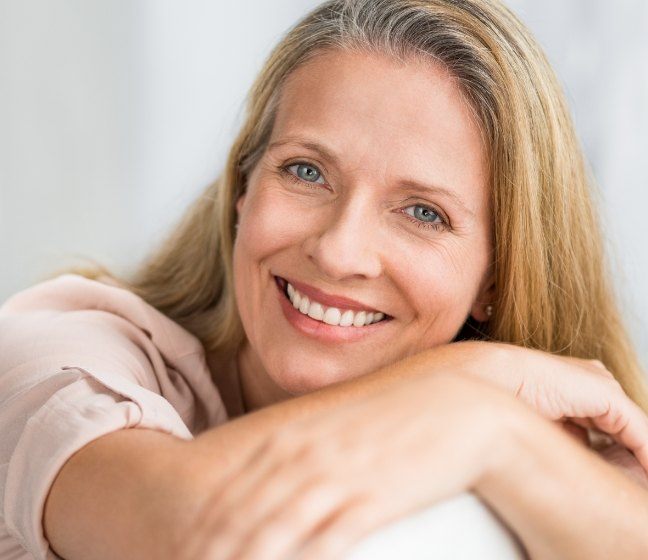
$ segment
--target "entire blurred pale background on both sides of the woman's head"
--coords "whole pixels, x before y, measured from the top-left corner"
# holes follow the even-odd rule
[[[216,178],[265,57],[318,3],[0,0],[0,303],[80,257],[133,268]],[[565,87],[648,365],[648,2],[508,4]]]

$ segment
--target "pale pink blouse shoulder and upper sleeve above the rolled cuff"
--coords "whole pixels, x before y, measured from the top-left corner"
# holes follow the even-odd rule
[[[168,408],[161,396],[192,430],[225,419],[198,338],[135,293],[77,274],[0,306],[4,397],[55,385],[70,370],[139,403],[155,401],[150,409]]]

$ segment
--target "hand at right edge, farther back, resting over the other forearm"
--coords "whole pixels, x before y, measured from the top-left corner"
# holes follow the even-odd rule
[[[648,472],[648,417],[598,360],[558,356],[493,342],[466,344],[462,369],[507,389],[587,443],[598,429],[628,448]],[[472,352],[467,359],[466,352]]]

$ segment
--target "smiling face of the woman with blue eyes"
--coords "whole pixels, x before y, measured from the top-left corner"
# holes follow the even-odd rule
[[[237,202],[235,293],[257,383],[306,393],[486,320],[489,198],[478,126],[440,66],[338,51],[293,72]],[[300,313],[277,278],[339,309],[324,319],[355,323]],[[362,309],[390,318],[354,326]]]

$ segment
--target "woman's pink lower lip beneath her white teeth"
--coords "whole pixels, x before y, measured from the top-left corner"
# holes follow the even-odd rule
[[[391,319],[383,319],[366,327],[338,327],[317,321],[295,309],[276,277],[274,281],[279,294],[279,304],[288,322],[298,331],[317,340],[323,342],[356,342],[383,331],[385,326],[391,322]]]

